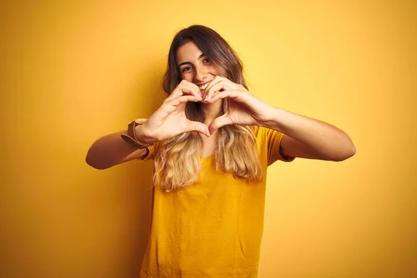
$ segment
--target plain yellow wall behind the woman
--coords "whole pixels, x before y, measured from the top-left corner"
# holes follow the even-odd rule
[[[416,1],[34,2],[0,9],[1,277],[138,277],[152,163],[85,154],[158,108],[191,24],[236,49],[257,97],[357,147],[269,168],[259,277],[417,277]]]

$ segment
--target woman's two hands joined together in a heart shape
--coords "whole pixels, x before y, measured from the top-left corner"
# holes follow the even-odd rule
[[[229,111],[215,118],[208,126],[187,119],[185,108],[188,101],[213,104],[224,98],[229,99]],[[157,141],[190,131],[198,131],[209,137],[227,124],[263,125],[272,120],[273,110],[274,107],[254,97],[243,85],[233,83],[224,77],[215,76],[208,83],[204,95],[197,85],[183,80],[163,101],[161,107],[149,117],[143,128],[147,136]]]

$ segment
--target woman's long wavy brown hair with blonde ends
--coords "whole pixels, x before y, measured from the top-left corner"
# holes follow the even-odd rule
[[[243,77],[243,63],[229,44],[211,28],[193,25],[174,36],[168,54],[167,70],[163,76],[163,90],[170,95],[181,82],[177,66],[177,50],[186,42],[193,41],[216,67],[218,72],[234,83],[247,88]],[[222,99],[219,115],[229,110],[229,99]],[[205,115],[199,102],[188,102],[185,108],[188,120],[204,122]],[[232,173],[235,179],[256,183],[262,179],[258,156],[258,142],[252,126],[237,124],[218,129],[218,144],[215,150],[217,171]],[[197,181],[202,170],[203,140],[198,132],[182,133],[160,142],[154,156],[154,185],[171,192],[186,188]]]

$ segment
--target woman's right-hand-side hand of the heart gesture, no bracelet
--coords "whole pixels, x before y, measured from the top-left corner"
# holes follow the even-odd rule
[[[204,100],[213,103],[226,97],[229,99],[229,111],[211,122],[208,126],[211,134],[227,124],[264,125],[272,120],[274,107],[254,97],[243,85],[215,76],[207,85]]]

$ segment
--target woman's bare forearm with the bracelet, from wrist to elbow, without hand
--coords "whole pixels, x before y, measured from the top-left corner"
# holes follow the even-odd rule
[[[142,136],[140,132],[141,127],[136,126],[136,137],[140,142],[148,142],[149,139]],[[127,130],[111,133],[96,140],[88,149],[85,162],[91,167],[103,170],[126,161],[144,158],[147,155],[148,149],[131,147],[129,143],[122,139],[122,134],[127,135]]]

